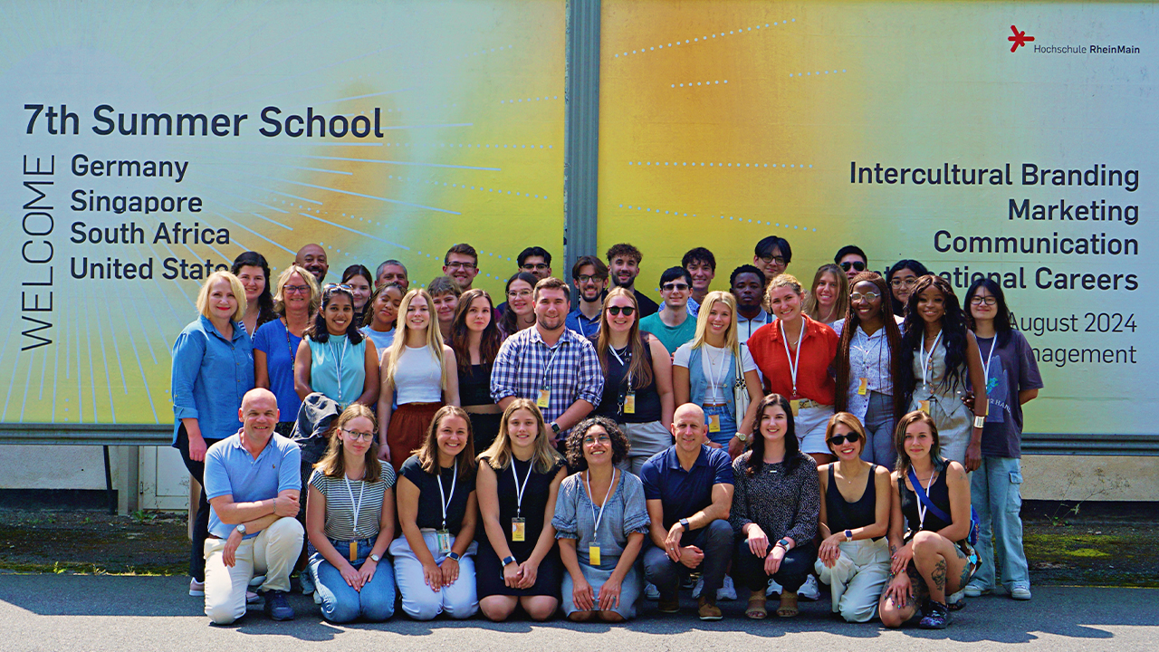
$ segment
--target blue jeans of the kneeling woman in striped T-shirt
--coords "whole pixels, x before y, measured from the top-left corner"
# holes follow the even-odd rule
[[[350,543],[330,539],[338,552],[348,552]],[[358,541],[358,560],[352,565],[362,568],[370,557],[374,539]],[[374,577],[363,585],[362,591],[355,591],[342,579],[342,573],[322,557],[320,552],[309,556],[309,570],[314,574],[314,586],[322,599],[322,617],[331,623],[349,623],[362,616],[363,620],[379,623],[394,615],[394,566],[384,558],[374,570]]]

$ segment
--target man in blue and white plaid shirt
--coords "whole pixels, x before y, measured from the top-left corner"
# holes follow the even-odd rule
[[[571,289],[559,278],[535,284],[535,326],[511,335],[491,365],[491,399],[506,410],[517,398],[539,405],[559,442],[599,405],[604,372],[596,348],[563,323]]]

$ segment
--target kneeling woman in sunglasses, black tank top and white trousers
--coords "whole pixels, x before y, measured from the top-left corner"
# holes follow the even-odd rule
[[[832,610],[846,622],[863,623],[877,613],[889,579],[889,471],[861,459],[866,432],[848,412],[829,419],[825,442],[837,462],[817,468],[821,491],[821,546],[814,570],[830,585]]]

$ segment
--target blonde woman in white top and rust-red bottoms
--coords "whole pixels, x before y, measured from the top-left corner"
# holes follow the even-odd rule
[[[422,443],[435,413],[459,405],[454,352],[443,343],[433,306],[427,290],[407,292],[399,304],[394,342],[382,355],[378,458],[396,470]]]

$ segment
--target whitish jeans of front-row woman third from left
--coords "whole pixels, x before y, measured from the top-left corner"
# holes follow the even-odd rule
[[[442,564],[446,555],[438,552],[438,535],[435,530],[423,530],[427,550]],[[454,536],[451,537],[454,546]],[[451,586],[432,591],[423,577],[423,563],[418,560],[406,536],[400,536],[391,543],[391,556],[394,557],[394,581],[399,584],[402,594],[402,610],[416,621],[430,621],[446,611],[452,618],[469,618],[479,610],[479,596],[475,591],[475,550],[479,544],[471,542],[467,552],[459,559],[459,579]]]

